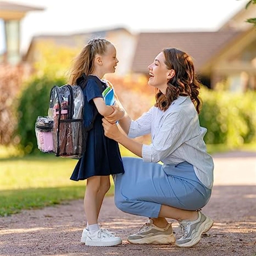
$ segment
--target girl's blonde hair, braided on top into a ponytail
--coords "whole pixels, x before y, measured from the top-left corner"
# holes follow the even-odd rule
[[[93,61],[97,54],[104,55],[110,41],[104,38],[93,38],[88,41],[87,45],[81,50],[75,58],[74,64],[70,70],[70,85],[76,85],[76,80],[85,73],[86,76],[93,72]]]

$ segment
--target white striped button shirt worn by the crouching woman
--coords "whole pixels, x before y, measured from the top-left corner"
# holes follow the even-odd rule
[[[206,132],[207,129],[199,124],[190,97],[178,96],[165,112],[152,107],[131,121],[128,137],[151,133],[152,143],[142,147],[144,162],[178,164],[187,161],[194,166],[195,174],[204,186],[212,189],[214,164],[206,151]]]

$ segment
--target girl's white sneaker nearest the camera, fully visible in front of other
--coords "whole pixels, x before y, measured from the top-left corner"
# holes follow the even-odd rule
[[[114,246],[122,244],[122,239],[115,236],[115,233],[100,229],[98,232],[87,234],[85,245],[88,246]]]

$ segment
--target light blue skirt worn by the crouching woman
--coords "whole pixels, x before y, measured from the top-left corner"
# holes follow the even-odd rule
[[[124,174],[113,176],[115,204],[123,212],[157,218],[161,205],[197,210],[211,196],[187,162],[177,165],[145,163],[141,158],[123,157]]]

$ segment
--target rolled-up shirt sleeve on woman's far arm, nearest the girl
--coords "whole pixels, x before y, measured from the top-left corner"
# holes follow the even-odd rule
[[[153,111],[154,107],[152,107],[148,112],[140,116],[137,120],[131,121],[131,125],[128,132],[129,138],[133,139],[151,133]]]

